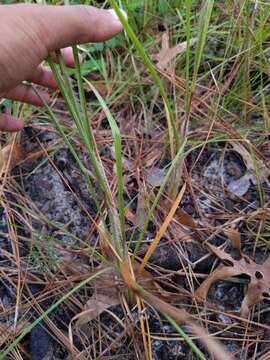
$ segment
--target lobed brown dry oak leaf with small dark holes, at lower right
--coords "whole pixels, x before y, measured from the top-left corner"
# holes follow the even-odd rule
[[[196,290],[195,297],[206,300],[210,286],[216,281],[232,276],[247,275],[250,282],[241,305],[241,315],[246,318],[253,305],[270,296],[270,257],[263,264],[257,264],[246,255],[242,254],[240,260],[235,260],[216,246],[208,244],[208,247],[224,263],[229,265],[219,265]]]

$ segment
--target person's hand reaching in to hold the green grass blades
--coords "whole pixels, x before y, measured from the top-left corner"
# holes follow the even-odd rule
[[[41,105],[28,83],[56,89],[52,73],[40,63],[61,50],[74,66],[69,46],[99,42],[122,31],[112,10],[92,6],[0,5],[0,98]],[[49,101],[49,94],[42,95]],[[0,114],[1,131],[19,131],[23,122]]]

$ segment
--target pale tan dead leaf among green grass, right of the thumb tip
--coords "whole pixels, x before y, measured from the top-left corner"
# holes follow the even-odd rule
[[[193,46],[197,38],[190,39],[190,45]],[[164,32],[162,36],[161,50],[155,55],[155,59],[158,61],[157,67],[161,70],[164,70],[167,65],[178,55],[186,51],[187,42],[184,41],[176,46],[169,47],[169,34]]]

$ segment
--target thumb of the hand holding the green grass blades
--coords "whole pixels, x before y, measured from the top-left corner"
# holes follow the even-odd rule
[[[114,10],[93,6],[33,6],[41,37],[49,51],[104,41],[123,30]]]

